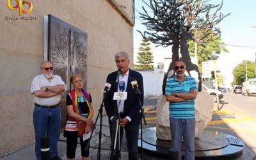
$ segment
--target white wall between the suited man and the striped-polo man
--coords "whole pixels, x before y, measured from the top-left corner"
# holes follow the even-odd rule
[[[162,93],[164,70],[137,70],[143,76],[144,97],[159,97]]]

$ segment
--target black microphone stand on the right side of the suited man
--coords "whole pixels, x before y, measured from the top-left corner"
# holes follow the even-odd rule
[[[141,118],[140,118],[140,146],[141,146],[141,154],[140,154],[140,159],[143,159],[143,143],[142,143],[142,118],[144,121],[144,124],[147,125],[146,119],[145,119],[145,114],[144,114],[144,109],[142,108],[141,105],[141,100],[140,100],[140,95],[141,92],[138,88],[134,88],[135,89],[135,93],[138,96],[138,100],[139,100],[139,104],[140,104],[140,113],[141,113]]]

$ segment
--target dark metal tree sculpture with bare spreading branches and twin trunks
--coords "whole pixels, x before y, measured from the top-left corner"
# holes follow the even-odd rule
[[[221,22],[229,15],[220,13],[221,4],[206,4],[204,0],[149,0],[148,5],[143,1],[152,13],[148,13],[143,6],[144,13],[140,13],[140,19],[144,22],[147,31],[141,33],[157,46],[162,45],[168,47],[172,45],[172,63],[168,68],[167,74],[164,76],[163,93],[165,92],[165,83],[169,72],[172,71],[173,65],[177,60],[183,60],[186,63],[187,71],[195,70],[198,73],[198,90],[201,91],[202,79],[198,67],[191,62],[188,52],[188,40],[200,42],[207,37],[209,30],[220,34],[220,29],[216,28],[216,24]],[[214,11],[212,11],[214,9]],[[202,39],[197,39],[197,35],[204,34]],[[179,58],[179,49],[181,58]]]

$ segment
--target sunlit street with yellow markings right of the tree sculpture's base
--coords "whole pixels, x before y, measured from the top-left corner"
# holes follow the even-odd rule
[[[214,114],[218,114],[221,117],[223,123],[218,124],[218,127],[212,127],[210,123],[207,129],[215,129],[216,131],[237,136],[256,153],[255,102],[255,95],[244,96],[232,92],[224,93],[224,98],[220,100],[220,111],[214,112]],[[216,104],[214,110],[216,110]]]

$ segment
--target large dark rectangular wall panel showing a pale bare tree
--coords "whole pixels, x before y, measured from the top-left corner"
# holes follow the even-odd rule
[[[65,82],[63,96],[71,90],[70,76],[79,74],[86,88],[87,33],[53,15],[48,16],[48,58],[54,74]]]

